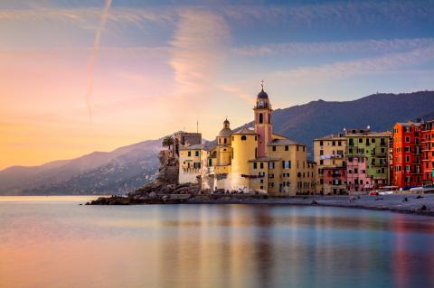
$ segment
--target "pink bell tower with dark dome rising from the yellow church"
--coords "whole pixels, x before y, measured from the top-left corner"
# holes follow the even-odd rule
[[[273,134],[273,125],[271,123],[271,104],[269,104],[269,95],[264,91],[264,80],[260,83],[262,89],[256,98],[256,106],[253,108],[255,113],[255,132],[259,135],[258,157],[268,155],[267,145],[271,141]]]

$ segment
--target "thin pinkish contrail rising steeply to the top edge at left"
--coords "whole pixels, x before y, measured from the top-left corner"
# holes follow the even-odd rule
[[[104,29],[104,25],[107,22],[110,6],[111,6],[111,0],[106,0],[106,4],[104,5],[104,9],[102,10],[102,14],[101,14],[101,21],[99,22],[99,26],[97,28],[97,31],[95,32],[95,42],[93,42],[92,57],[88,62],[89,83],[88,83],[88,89],[86,91],[86,103],[88,105],[90,123],[92,123],[92,107],[90,107],[90,98],[92,97],[95,63],[97,62],[98,54],[99,54],[99,42],[101,40],[101,32]]]

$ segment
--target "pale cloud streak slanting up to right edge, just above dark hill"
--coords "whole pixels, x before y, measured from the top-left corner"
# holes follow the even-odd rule
[[[294,81],[312,82],[323,79],[339,79],[353,75],[367,75],[378,72],[390,72],[412,65],[434,60],[434,46],[418,48],[412,51],[390,53],[381,57],[361,60],[339,61],[316,67],[302,67],[296,70],[280,70],[272,73],[273,77]]]

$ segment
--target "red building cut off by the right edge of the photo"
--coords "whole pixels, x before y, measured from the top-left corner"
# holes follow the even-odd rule
[[[420,137],[422,153],[422,182],[423,185],[432,185],[434,162],[434,120],[423,125]]]

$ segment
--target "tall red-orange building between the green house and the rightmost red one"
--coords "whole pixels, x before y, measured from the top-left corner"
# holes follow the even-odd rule
[[[415,122],[397,123],[393,127],[392,181],[394,186],[405,188],[422,184],[420,146],[423,127],[423,124]],[[434,137],[431,138],[434,140]]]

